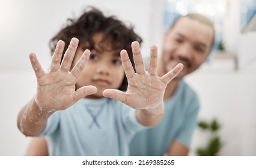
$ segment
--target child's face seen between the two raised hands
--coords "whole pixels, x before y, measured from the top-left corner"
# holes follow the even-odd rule
[[[99,49],[102,34],[98,33],[93,37],[94,46]],[[108,42],[104,44],[106,49],[111,46]],[[78,47],[75,58],[72,62],[72,68],[76,62],[81,58],[84,50]],[[103,51],[91,50],[91,56],[86,63],[84,70],[78,77],[76,82],[76,89],[86,85],[96,86],[98,89],[96,94],[88,95],[87,98],[100,98],[105,89],[118,89],[124,79],[124,70],[120,58],[120,51]]]

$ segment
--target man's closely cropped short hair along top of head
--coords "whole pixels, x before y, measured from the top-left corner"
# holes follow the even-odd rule
[[[178,20],[180,20],[181,18],[184,18],[184,17],[187,17],[187,18],[189,18],[189,19],[197,20],[197,21],[200,22],[200,23],[203,23],[203,24],[205,24],[205,25],[207,25],[207,26],[210,26],[210,28],[212,28],[212,30],[213,30],[213,40],[212,40],[212,46],[213,46],[213,44],[215,43],[215,28],[214,28],[214,26],[213,26],[212,21],[211,21],[209,18],[207,18],[206,16],[204,16],[203,14],[199,14],[199,13],[190,13],[190,14],[187,14],[187,15],[185,15],[185,16],[180,16],[180,17],[178,17],[178,18],[174,21],[174,23],[171,25],[171,28],[170,28],[170,29],[174,28],[174,26],[175,26],[175,24],[178,22]]]

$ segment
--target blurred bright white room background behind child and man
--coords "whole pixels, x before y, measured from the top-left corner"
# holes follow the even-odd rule
[[[175,17],[206,14],[215,24],[216,43],[207,62],[185,80],[200,97],[198,120],[220,127],[198,126],[190,155],[213,135],[221,142],[218,155],[256,155],[256,0],[0,0],[0,155],[25,155],[30,140],[16,125],[17,113],[36,91],[29,53],[47,70],[50,38],[88,5],[133,25],[145,56],[152,44],[161,54],[163,33]]]

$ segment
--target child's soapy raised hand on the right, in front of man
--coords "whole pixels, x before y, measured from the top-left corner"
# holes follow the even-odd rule
[[[180,73],[183,69],[183,65],[178,64],[164,76],[159,77],[157,76],[156,46],[150,48],[148,71],[145,71],[139,43],[137,41],[132,43],[132,52],[136,73],[133,70],[126,50],[121,51],[121,60],[128,80],[127,91],[121,92],[117,89],[106,89],[103,95],[120,100],[128,106],[133,107],[133,109],[159,109],[157,107],[162,106],[166,85]]]

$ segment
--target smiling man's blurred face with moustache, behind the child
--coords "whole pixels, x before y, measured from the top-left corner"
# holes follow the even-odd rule
[[[213,35],[210,26],[197,20],[187,17],[177,20],[163,41],[163,70],[169,71],[182,63],[184,68],[177,79],[197,70],[210,53]]]

